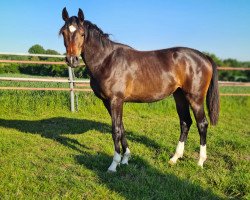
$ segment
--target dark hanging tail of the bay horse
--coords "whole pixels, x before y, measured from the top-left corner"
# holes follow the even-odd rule
[[[209,56],[207,56],[207,58],[212,64],[213,75],[212,75],[212,80],[208,88],[206,102],[207,102],[207,109],[208,109],[210,122],[212,125],[216,125],[219,119],[219,112],[220,112],[218,70],[217,70],[217,65],[215,64],[213,59]]]

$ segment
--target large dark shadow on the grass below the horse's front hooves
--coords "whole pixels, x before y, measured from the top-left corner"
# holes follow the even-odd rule
[[[128,200],[220,199],[211,190],[203,189],[174,174],[160,172],[139,156],[133,156],[128,166],[121,165],[114,174],[105,170],[110,160],[112,157],[103,152],[76,156],[76,161],[95,172],[102,184]]]

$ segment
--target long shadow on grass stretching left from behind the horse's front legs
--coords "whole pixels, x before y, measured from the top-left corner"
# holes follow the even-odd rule
[[[66,147],[83,153],[82,148],[88,147],[80,144],[76,139],[68,137],[74,134],[84,134],[90,130],[97,130],[101,133],[111,133],[111,125],[88,119],[74,119],[66,117],[56,117],[44,120],[6,120],[0,119],[0,126],[6,128],[14,128],[23,133],[39,134],[42,137],[52,139]],[[131,131],[127,132],[127,138],[138,143],[142,143],[147,147],[160,149],[161,147],[154,140],[135,134]],[[81,148],[79,148],[81,147]],[[166,148],[164,148],[166,150]]]

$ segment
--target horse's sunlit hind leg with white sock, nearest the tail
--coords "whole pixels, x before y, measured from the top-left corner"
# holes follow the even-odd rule
[[[208,121],[204,111],[204,98],[190,98],[190,104],[195,116],[197,128],[200,134],[200,158],[198,165],[203,167],[203,163],[207,159],[206,138]]]

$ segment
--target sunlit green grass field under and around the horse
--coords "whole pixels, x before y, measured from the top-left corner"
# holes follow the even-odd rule
[[[0,91],[0,199],[250,199],[249,97],[221,98],[204,169],[195,123],[184,158],[168,164],[179,138],[172,97],[125,105],[132,158],[115,174],[109,115],[92,93],[79,108],[69,111],[67,92]]]

